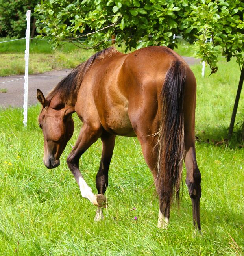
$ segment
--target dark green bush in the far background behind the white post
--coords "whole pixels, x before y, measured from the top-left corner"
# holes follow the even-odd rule
[[[33,10],[39,0],[0,0],[0,37],[24,37],[26,31],[26,11]]]

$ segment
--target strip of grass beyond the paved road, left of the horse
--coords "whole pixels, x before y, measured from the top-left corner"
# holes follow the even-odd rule
[[[0,41],[7,41],[7,38],[0,38]],[[25,48],[24,39],[0,44],[0,58],[4,59],[0,62],[0,76],[24,74]],[[81,50],[71,43],[52,50],[48,42],[33,40],[30,41],[29,74],[72,69],[92,54],[91,50]]]

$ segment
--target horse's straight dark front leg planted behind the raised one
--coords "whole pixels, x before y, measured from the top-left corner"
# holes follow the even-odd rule
[[[103,133],[101,136],[102,141],[102,157],[100,161],[100,166],[98,173],[96,174],[96,188],[98,190],[98,194],[104,195],[107,185],[108,185],[108,171],[111,158],[113,156],[113,149],[115,147],[115,135],[111,135],[108,133]],[[96,211],[95,221],[100,221],[103,219],[102,208],[98,207]]]

